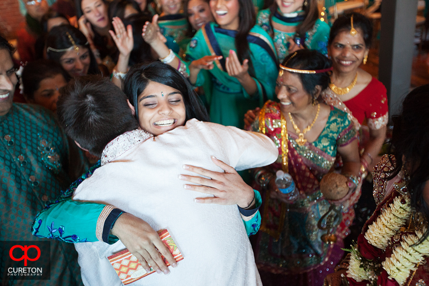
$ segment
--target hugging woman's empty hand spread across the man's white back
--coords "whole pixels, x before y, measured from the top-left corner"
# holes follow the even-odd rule
[[[239,207],[245,208],[249,204],[251,207],[254,204],[254,191],[246,184],[237,171],[224,162],[212,157],[212,161],[224,171],[214,172],[200,167],[183,165],[183,169],[196,173],[202,176],[189,176],[180,175],[179,178],[183,181],[200,184],[189,185],[185,184],[183,187],[186,190],[196,191],[200,193],[214,195],[214,197],[196,198],[198,203],[216,203],[222,205],[237,204]]]

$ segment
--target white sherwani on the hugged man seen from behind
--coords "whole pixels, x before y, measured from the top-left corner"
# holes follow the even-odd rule
[[[97,100],[123,100],[114,94],[97,97],[96,90],[87,95],[90,100],[82,102],[93,106]],[[61,102],[70,104],[65,98]],[[103,150],[102,166],[78,186],[73,199],[114,205],[155,230],[167,229],[184,257],[169,275],[151,274],[133,285],[262,285],[237,206],[195,203],[204,195],[185,190],[179,175],[192,175],[183,165],[223,172],[213,164],[212,156],[237,170],[271,164],[278,151],[270,138],[191,119],[156,137],[136,129],[111,139]],[[121,241],[77,243],[75,247],[85,285],[122,285],[107,259],[126,248]]]

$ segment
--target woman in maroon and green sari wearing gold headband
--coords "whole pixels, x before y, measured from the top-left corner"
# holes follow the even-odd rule
[[[256,260],[264,285],[319,286],[341,258],[344,223],[333,230],[337,242],[325,244],[318,221],[330,201],[319,188],[321,178],[333,167],[337,153],[343,158],[342,174],[349,178],[349,194],[343,205],[342,221],[351,220],[356,186],[359,184],[357,133],[347,114],[318,103],[320,92],[329,84],[330,60],[312,50],[288,56],[277,78],[280,103],[269,101],[256,116],[252,129],[263,132],[277,145],[275,163],[254,170],[257,184],[267,187]],[[294,201],[278,192],[277,170],[293,177],[298,198]],[[339,202],[337,202],[339,203]]]

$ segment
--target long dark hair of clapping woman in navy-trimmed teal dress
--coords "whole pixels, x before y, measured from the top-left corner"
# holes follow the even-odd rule
[[[255,71],[253,69],[252,61],[250,60],[250,48],[247,36],[250,29],[256,24],[255,7],[253,6],[253,2],[249,0],[238,0],[238,3],[240,5],[238,12],[240,22],[237,30],[238,33],[235,36],[235,47],[237,49],[237,56],[240,63],[243,63],[245,59],[248,59],[249,74],[254,76]]]

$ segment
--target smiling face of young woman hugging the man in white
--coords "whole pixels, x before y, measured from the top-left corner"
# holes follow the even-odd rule
[[[175,88],[150,82],[137,101],[140,127],[155,136],[185,124],[183,96]]]

